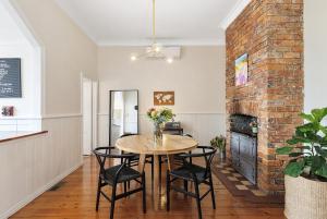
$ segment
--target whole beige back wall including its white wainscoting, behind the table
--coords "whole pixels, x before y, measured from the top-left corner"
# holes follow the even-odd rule
[[[108,106],[110,89],[140,90],[141,133],[152,132],[145,112],[153,107],[153,93],[174,90],[171,107],[185,129],[201,144],[208,144],[225,133],[225,47],[183,47],[182,59],[165,61],[130,61],[140,47],[100,47],[99,77],[99,144],[108,144]]]

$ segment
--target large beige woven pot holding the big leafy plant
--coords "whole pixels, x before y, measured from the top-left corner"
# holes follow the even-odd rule
[[[326,219],[327,183],[305,178],[284,177],[286,206],[288,219]]]

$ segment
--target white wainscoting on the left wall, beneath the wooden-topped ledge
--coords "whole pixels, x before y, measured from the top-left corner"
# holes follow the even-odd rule
[[[0,219],[82,165],[81,117],[43,119],[47,134],[0,143]]]

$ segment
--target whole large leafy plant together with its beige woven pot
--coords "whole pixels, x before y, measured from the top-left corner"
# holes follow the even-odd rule
[[[301,117],[307,123],[298,126],[288,146],[277,149],[290,160],[284,168],[288,219],[327,218],[327,108],[314,109]]]

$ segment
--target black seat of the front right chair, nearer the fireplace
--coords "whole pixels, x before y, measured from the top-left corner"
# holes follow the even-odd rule
[[[201,183],[206,180],[206,169],[197,165],[183,165],[182,167],[170,172],[172,177],[181,178],[187,181],[193,181],[193,173],[196,175],[197,182]]]

